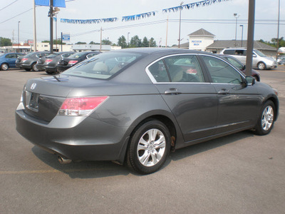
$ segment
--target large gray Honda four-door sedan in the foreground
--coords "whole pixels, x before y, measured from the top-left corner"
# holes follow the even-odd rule
[[[61,163],[115,161],[147,174],[178,148],[247,129],[266,135],[278,111],[276,90],[219,56],[123,49],[28,80],[16,129]]]

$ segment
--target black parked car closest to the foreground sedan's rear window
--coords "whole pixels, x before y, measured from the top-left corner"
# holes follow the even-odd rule
[[[71,68],[72,66],[80,63],[81,61],[86,60],[86,58],[90,58],[97,54],[100,54],[100,52],[83,51],[83,52],[78,52],[76,54],[68,56],[67,58],[62,58],[58,62],[58,65],[56,66],[56,70],[58,73],[66,71],[66,69]]]

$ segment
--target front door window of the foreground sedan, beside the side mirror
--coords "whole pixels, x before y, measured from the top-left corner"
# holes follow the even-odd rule
[[[202,56],[214,83],[242,83],[242,76],[228,63],[211,56]]]

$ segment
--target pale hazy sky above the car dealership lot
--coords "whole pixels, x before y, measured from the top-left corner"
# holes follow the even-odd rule
[[[184,4],[191,4],[197,1],[184,1]],[[187,35],[198,29],[205,29],[216,37],[215,39],[234,39],[236,32],[236,19],[238,14],[237,39],[242,37],[244,25],[244,39],[247,39],[247,18],[249,0],[222,1],[209,6],[195,7],[194,9],[182,10],[181,43],[187,42]],[[77,41],[100,41],[100,28],[103,28],[103,39],[109,39],[113,43],[118,42],[120,36],[129,39],[138,35],[140,39],[147,36],[153,37],[157,44],[162,45],[178,44],[179,12],[162,13],[162,9],[179,6],[181,1],[173,0],[74,0],[66,2],[66,8],[58,13],[57,35],[61,32],[71,34],[71,43]],[[10,6],[8,6],[11,4]],[[18,39],[18,21],[20,22],[20,41],[33,39],[33,0],[0,0],[0,36]],[[7,6],[7,7],[6,7]],[[121,21],[123,16],[143,14],[155,11],[155,16],[136,21]],[[23,13],[23,14],[21,14]],[[21,15],[19,15],[21,14]],[[15,17],[14,17],[15,16]],[[14,17],[14,18],[13,18]],[[100,24],[66,24],[60,19],[105,19],[117,17],[118,21]],[[167,31],[167,18],[168,23]],[[278,0],[256,0],[256,14],[254,39],[270,41],[277,36]],[[279,37],[285,37],[285,2],[281,1]],[[48,7],[36,7],[36,31],[37,41],[49,40],[49,18]],[[55,31],[55,30],[54,30]],[[56,36],[54,36],[55,38]]]

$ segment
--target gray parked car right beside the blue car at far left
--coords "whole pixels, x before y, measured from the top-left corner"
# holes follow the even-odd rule
[[[39,71],[36,67],[36,62],[38,58],[47,56],[50,52],[41,51],[41,52],[31,52],[25,56],[21,56],[16,60],[16,67],[24,68],[26,71]]]

